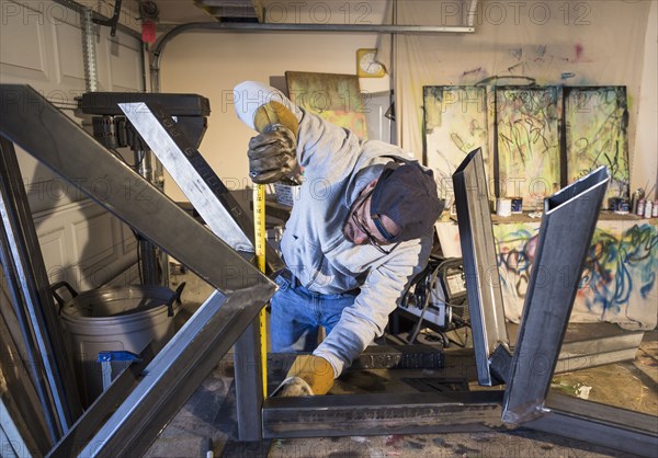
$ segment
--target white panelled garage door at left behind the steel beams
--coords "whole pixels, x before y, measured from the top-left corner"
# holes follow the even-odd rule
[[[107,11],[103,11],[107,13]],[[0,83],[30,84],[76,122],[86,91],[80,18],[52,1],[0,1]],[[140,41],[95,27],[99,91],[144,88]],[[76,151],[67,151],[76,154]],[[50,284],[100,286],[136,260],[131,229],[60,176],[18,150]]]

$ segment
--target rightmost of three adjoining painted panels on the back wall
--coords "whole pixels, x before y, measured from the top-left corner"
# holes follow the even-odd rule
[[[605,165],[611,175],[606,197],[628,198],[626,88],[565,88],[564,98],[568,183]]]

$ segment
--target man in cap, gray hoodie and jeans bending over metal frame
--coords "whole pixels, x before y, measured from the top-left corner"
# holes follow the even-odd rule
[[[353,133],[257,82],[234,90],[249,142],[250,176],[273,183],[304,170],[281,240],[286,270],[275,279],[274,352],[299,356],[281,396],[325,394],[383,334],[409,282],[424,268],[443,210],[430,170],[396,146]],[[327,331],[318,345],[318,328]]]

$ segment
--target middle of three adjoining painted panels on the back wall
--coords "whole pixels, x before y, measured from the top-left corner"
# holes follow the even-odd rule
[[[560,187],[557,87],[496,88],[496,195],[540,209]]]

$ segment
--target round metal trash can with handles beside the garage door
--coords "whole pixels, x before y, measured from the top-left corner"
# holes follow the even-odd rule
[[[154,341],[158,352],[175,332],[182,283],[175,291],[163,286],[102,287],[78,294],[68,283],[52,286],[59,317],[69,336],[70,352],[82,403],[89,407],[103,392],[100,352],[139,354]],[[63,299],[66,288],[71,298]],[[113,362],[113,378],[129,363]]]

